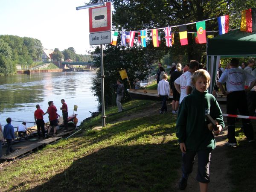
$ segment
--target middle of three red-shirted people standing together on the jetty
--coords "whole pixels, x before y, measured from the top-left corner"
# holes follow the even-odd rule
[[[53,101],[48,102],[48,109],[47,113],[49,114],[49,120],[50,120],[50,126],[48,128],[48,135],[50,134],[51,128],[53,127],[53,135],[55,136],[57,126],[58,126],[58,114],[57,114],[57,108],[53,105]],[[60,116],[59,116],[60,117]]]

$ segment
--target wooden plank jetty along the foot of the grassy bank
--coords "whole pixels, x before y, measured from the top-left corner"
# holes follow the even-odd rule
[[[45,145],[53,144],[57,142],[58,140],[61,140],[62,137],[51,137],[46,140],[41,140],[38,143],[32,143],[30,145],[27,145],[21,149],[17,149],[16,151],[12,152],[9,155],[4,155],[1,159],[4,160],[16,160],[22,157],[25,157],[28,154],[31,154],[32,152],[39,149],[39,147],[44,147]]]

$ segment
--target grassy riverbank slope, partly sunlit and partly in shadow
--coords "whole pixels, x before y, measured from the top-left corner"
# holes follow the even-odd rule
[[[101,130],[92,129],[101,125],[99,115],[84,122],[75,137],[0,164],[0,191],[177,191],[177,116],[158,114],[159,101],[133,100],[123,106],[127,110],[121,113],[116,107],[106,110],[107,125]],[[255,191],[255,145],[252,150],[239,128],[236,134],[239,147],[227,150],[227,177],[232,191]]]

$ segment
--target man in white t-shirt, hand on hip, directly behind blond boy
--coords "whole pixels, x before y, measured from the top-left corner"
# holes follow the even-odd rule
[[[184,99],[185,96],[188,95],[187,93],[187,86],[191,87],[192,90],[192,81],[189,81],[192,74],[198,70],[200,63],[198,61],[192,60],[189,63],[189,70],[186,73],[183,73],[178,79],[174,81],[174,86],[178,93],[180,93],[180,103]],[[190,91],[191,93],[191,91]]]

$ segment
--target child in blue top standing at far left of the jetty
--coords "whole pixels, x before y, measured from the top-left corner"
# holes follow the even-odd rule
[[[10,152],[12,152],[12,139],[15,138],[14,135],[14,128],[11,125],[12,119],[8,117],[6,119],[7,124],[4,125],[3,128],[3,137],[6,139],[7,148],[6,148],[6,155],[8,155]]]

